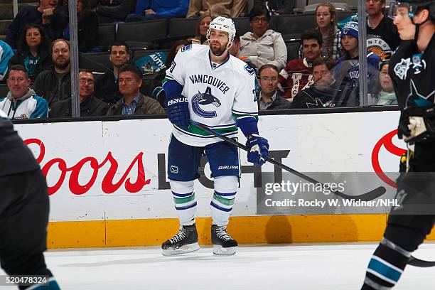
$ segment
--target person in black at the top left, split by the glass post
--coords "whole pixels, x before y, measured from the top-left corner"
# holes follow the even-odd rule
[[[70,40],[70,23],[68,14],[68,0],[64,2],[63,11],[67,23],[63,30],[63,38]],[[78,49],[82,53],[97,50],[98,46],[98,17],[90,10],[89,0],[77,0],[77,37]]]

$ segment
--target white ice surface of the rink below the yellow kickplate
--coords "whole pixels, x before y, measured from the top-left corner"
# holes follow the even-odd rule
[[[62,289],[352,290],[360,289],[375,247],[254,245],[232,257],[213,256],[211,247],[178,257],[163,257],[158,247],[63,249],[45,257]],[[414,256],[434,260],[435,244]],[[396,289],[435,289],[435,267],[407,267]]]

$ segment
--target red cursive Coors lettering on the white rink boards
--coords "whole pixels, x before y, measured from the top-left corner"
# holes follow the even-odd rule
[[[43,141],[41,141],[39,139],[26,139],[24,141],[24,143],[27,145],[37,144],[39,146],[40,152],[39,152],[38,158],[36,158],[36,161],[38,161],[38,163],[41,164],[41,162],[43,161],[44,156],[45,156],[45,145],[44,145]],[[104,176],[102,184],[101,184],[102,191],[104,193],[108,193],[108,194],[114,193],[122,186],[123,183],[125,183],[124,188],[129,193],[137,193],[142,188],[144,188],[144,186],[151,183],[151,179],[146,179],[146,176],[145,176],[143,156],[144,156],[144,153],[140,152],[133,159],[133,161],[131,161],[129,167],[127,168],[127,171],[125,171],[124,174],[122,174],[122,177],[116,183],[114,183],[114,177],[117,175],[118,162],[114,159],[114,157],[112,156],[112,152],[110,152],[110,151],[109,151],[109,153],[107,153],[107,156],[104,159],[104,161],[102,161],[102,163],[98,163],[97,159],[95,159],[94,157],[88,156],[88,157],[85,157],[84,159],[81,159],[80,161],[78,161],[77,164],[75,164],[74,166],[68,168],[65,160],[60,159],[60,158],[55,158],[55,159],[52,159],[52,160],[48,161],[47,163],[45,163],[45,165],[42,167],[41,170],[42,170],[43,174],[45,176],[47,176],[48,172],[50,171],[52,166],[55,163],[58,163],[60,177],[54,186],[48,186],[48,195],[53,195],[59,190],[59,188],[63,185],[63,181],[65,181],[66,173],[68,173],[69,171],[70,171],[70,180],[69,180],[68,186],[71,190],[71,193],[73,193],[75,195],[82,195],[84,193],[87,193],[87,191],[89,191],[92,188],[92,186],[95,183],[95,180],[97,179],[98,171],[100,170],[100,168],[102,168],[102,166],[104,166],[107,162],[109,162],[109,164],[110,164],[109,170],[107,171],[106,175]],[[79,178],[80,172],[82,171],[83,166],[85,166],[86,163],[89,163],[90,168],[92,168],[92,176],[90,177],[90,180],[85,185],[82,186],[82,185],[80,185],[78,178]],[[137,164],[137,178],[136,178],[136,181],[134,183],[132,183],[131,178],[127,179],[127,177],[129,176],[131,168],[133,168],[133,166],[135,164]],[[127,181],[126,181],[126,179],[127,179]]]

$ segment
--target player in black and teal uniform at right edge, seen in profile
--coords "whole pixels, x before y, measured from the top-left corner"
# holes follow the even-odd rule
[[[390,211],[363,290],[391,289],[397,284],[435,221],[435,1],[392,2],[390,17],[403,41],[389,70],[401,109],[398,135],[408,150],[397,180],[399,206]]]

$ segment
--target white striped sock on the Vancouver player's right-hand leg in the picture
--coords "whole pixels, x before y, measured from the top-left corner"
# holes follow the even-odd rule
[[[237,193],[237,176],[215,178],[215,193],[210,203],[213,224],[227,225]]]

